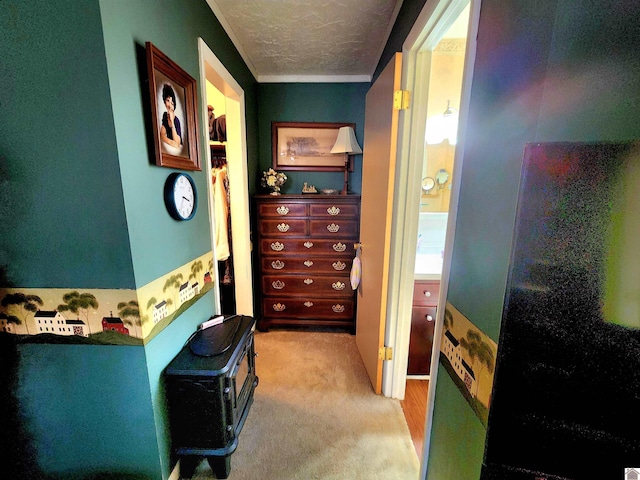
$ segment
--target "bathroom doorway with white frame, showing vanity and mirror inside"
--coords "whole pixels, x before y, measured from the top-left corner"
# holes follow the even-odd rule
[[[395,202],[403,220],[394,229],[390,276],[397,285],[390,300],[397,325],[386,339],[397,358],[386,366],[386,378],[392,380],[385,392],[404,399],[406,412],[414,411],[414,419],[407,420],[422,460],[421,478],[427,468],[435,391],[428,386],[437,377],[479,12],[480,0],[428,2],[403,45],[402,88],[411,92],[411,108],[400,123]],[[415,373],[409,370],[414,324],[423,355]],[[414,381],[419,388],[412,388]]]

